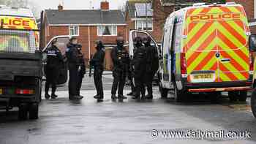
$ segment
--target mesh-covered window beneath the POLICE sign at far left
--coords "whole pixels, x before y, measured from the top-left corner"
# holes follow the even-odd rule
[[[35,53],[35,31],[0,30],[0,52]]]

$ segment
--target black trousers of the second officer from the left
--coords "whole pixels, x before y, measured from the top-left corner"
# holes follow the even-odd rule
[[[78,96],[78,65],[69,64],[69,97]]]

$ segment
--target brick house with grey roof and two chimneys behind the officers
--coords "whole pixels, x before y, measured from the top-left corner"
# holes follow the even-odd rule
[[[99,10],[45,10],[43,20],[43,41],[46,45],[52,37],[70,35],[78,38],[83,45],[86,62],[95,53],[94,42],[101,39],[105,43],[105,67],[110,69],[110,48],[116,45],[118,36],[126,37],[124,14],[121,10],[109,10],[108,1],[101,2]]]

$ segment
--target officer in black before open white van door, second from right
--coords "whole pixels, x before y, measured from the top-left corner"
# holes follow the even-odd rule
[[[134,39],[135,50],[132,63],[135,67],[135,89],[136,94],[133,99],[146,99],[144,75],[146,72],[146,48],[143,46],[143,40],[140,37]]]

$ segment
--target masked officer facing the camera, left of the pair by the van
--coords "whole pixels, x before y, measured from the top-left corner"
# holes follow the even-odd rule
[[[124,38],[118,37],[116,39],[117,46],[111,51],[111,58],[113,60],[113,85],[111,90],[112,99],[127,99],[123,94],[125,78],[129,69],[129,53],[124,48]],[[118,97],[116,91],[118,88]]]

